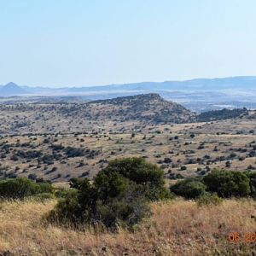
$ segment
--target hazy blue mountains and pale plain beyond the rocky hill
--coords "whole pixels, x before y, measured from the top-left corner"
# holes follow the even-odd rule
[[[118,96],[158,93],[166,100],[204,111],[220,108],[256,108],[256,76],[224,79],[108,84],[90,87],[44,88],[9,83],[0,86],[0,96],[79,96],[81,100],[102,100]]]

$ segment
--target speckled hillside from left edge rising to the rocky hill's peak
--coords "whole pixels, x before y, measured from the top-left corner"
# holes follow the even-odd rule
[[[87,103],[0,105],[0,113],[2,134],[131,131],[136,125],[195,119],[195,113],[156,94]]]

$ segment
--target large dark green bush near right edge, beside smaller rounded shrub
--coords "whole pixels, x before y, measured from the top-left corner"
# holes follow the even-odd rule
[[[243,197],[250,194],[249,178],[243,172],[215,170],[203,178],[207,191],[221,197]]]

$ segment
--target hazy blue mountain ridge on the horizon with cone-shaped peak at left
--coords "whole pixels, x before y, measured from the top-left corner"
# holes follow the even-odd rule
[[[132,84],[108,84],[99,86],[69,87],[69,88],[45,88],[19,86],[9,83],[0,86],[0,96],[16,96],[20,94],[37,94],[44,96],[54,93],[77,94],[86,92],[110,92],[119,91],[129,93],[129,91],[168,91],[168,90],[256,90],[256,77],[231,77],[224,79],[192,79],[185,81],[165,81],[165,82],[142,82]]]

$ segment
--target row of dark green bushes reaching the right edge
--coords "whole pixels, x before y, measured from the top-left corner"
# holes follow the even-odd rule
[[[175,195],[195,199],[207,193],[219,197],[256,197],[256,172],[215,170],[201,178],[187,178],[171,186]]]

